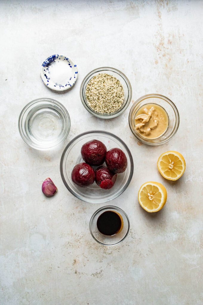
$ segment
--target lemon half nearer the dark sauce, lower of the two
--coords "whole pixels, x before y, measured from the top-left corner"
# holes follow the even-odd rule
[[[158,212],[166,203],[166,188],[159,182],[145,182],[138,191],[138,201],[147,212]]]

